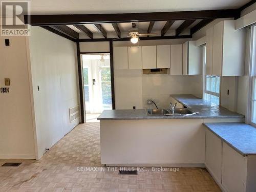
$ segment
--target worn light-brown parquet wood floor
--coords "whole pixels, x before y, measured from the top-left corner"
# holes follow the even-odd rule
[[[100,163],[99,123],[79,124],[56,143],[40,160],[18,167],[0,167],[0,192],[20,191],[221,191],[204,168],[180,168],[179,172],[139,172],[118,175],[118,171],[78,172],[77,167],[103,167]]]

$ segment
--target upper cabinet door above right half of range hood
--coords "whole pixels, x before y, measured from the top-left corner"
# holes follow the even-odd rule
[[[157,46],[157,68],[170,68],[170,45]]]

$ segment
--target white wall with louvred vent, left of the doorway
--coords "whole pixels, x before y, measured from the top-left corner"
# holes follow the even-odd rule
[[[78,123],[69,108],[78,105],[75,43],[40,27],[29,38],[38,157]],[[39,91],[37,90],[39,86]]]

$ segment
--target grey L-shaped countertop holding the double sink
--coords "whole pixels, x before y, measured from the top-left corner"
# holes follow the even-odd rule
[[[194,95],[170,95],[188,109],[197,112],[194,115],[147,115],[146,110],[104,110],[98,120],[132,120],[132,119],[205,119],[205,118],[244,118],[244,115],[231,112],[218,105]]]

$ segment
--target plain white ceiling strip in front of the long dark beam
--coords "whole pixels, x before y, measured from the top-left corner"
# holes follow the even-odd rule
[[[236,9],[250,0],[31,0],[31,14],[135,13]]]

